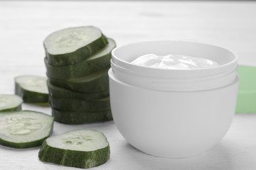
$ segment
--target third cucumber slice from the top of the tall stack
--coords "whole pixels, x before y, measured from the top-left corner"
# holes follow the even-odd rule
[[[71,91],[77,91],[81,93],[95,93],[100,91],[106,91],[109,89],[109,79],[107,71],[110,67],[88,74],[85,77],[73,78],[68,80],[53,79],[48,76],[50,84],[59,86]]]

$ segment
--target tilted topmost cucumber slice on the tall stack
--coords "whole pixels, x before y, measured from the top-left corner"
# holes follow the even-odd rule
[[[51,33],[44,40],[43,45],[48,63],[63,66],[87,59],[107,43],[107,38],[99,28],[82,26]]]

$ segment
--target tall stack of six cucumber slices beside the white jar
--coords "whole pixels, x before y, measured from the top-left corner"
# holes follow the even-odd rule
[[[99,28],[58,30],[43,42],[49,103],[55,121],[82,124],[112,120],[108,70],[114,40]]]

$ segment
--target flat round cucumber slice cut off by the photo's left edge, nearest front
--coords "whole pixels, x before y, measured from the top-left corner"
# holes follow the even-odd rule
[[[35,111],[0,113],[0,144],[7,147],[40,146],[53,130],[53,117]]]

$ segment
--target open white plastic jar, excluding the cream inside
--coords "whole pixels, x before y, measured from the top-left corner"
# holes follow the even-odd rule
[[[218,67],[157,69],[131,62],[146,54],[188,55]],[[198,42],[137,42],[112,51],[110,102],[114,123],[134,147],[159,157],[191,157],[230,128],[238,94],[238,57]]]

